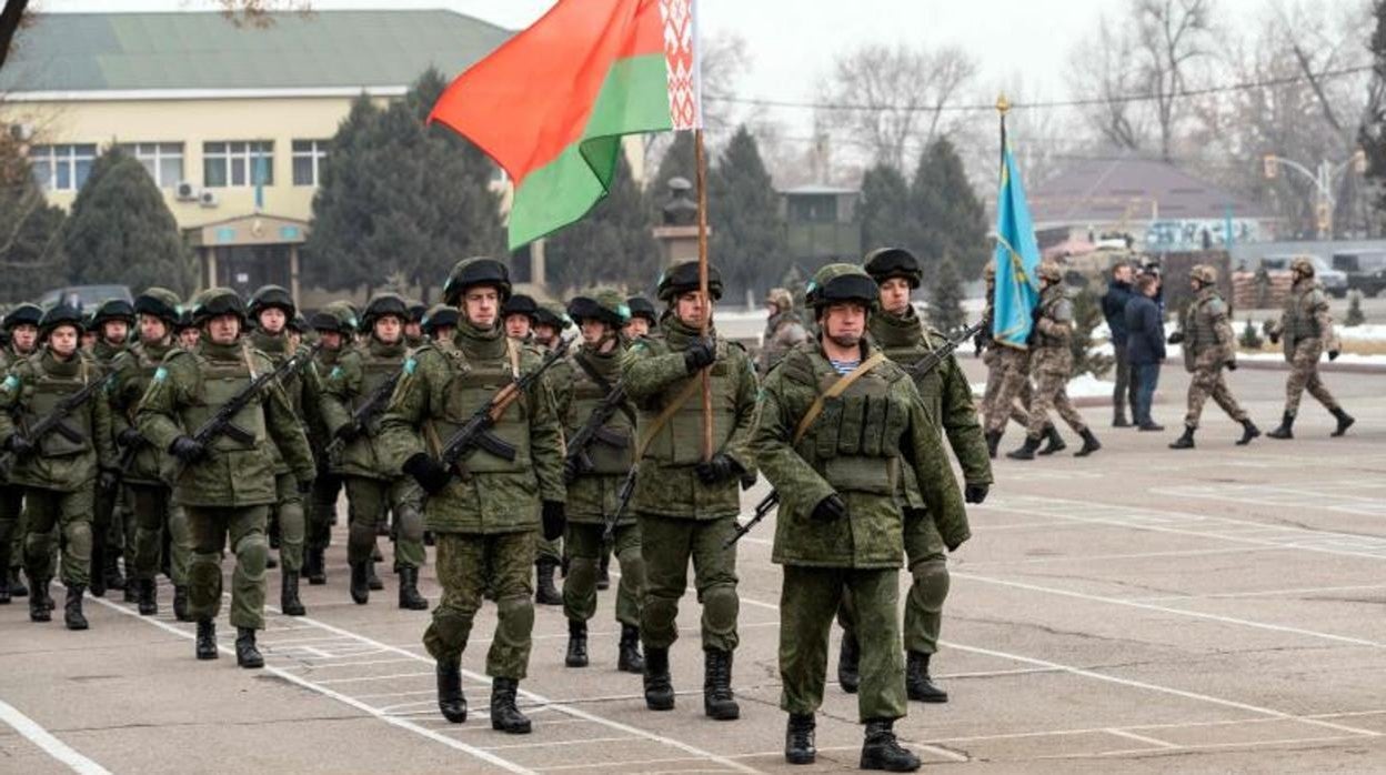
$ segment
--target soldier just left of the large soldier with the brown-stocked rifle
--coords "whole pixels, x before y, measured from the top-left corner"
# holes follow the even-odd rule
[[[392,512],[398,527],[395,567],[399,574],[399,607],[423,611],[428,609],[428,600],[419,593],[419,568],[424,564],[420,494],[413,482],[389,467],[381,439],[381,417],[392,390],[389,383],[402,378],[409,355],[403,336],[407,319],[409,309],[398,295],[380,294],[370,299],[362,315],[362,327],[369,331],[369,338],[338,355],[337,365],[324,380],[322,410],[333,438],[342,444],[333,471],[346,484],[351,599],[362,606],[370,602],[371,553],[378,527],[385,521],[385,513]],[[353,415],[373,399],[380,409],[366,417],[362,427]]]

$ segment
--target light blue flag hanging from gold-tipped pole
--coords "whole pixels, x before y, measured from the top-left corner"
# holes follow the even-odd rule
[[[991,336],[1001,344],[1026,349],[1040,304],[1040,244],[1016,157],[1006,141],[1001,116],[1001,187],[997,193],[997,298]]]

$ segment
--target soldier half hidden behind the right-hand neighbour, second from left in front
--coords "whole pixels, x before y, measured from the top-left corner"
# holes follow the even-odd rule
[[[179,298],[173,291],[152,287],[134,299],[140,341],[112,362],[111,401],[112,437],[121,449],[121,477],[133,506],[136,531],[130,549],[134,568],[129,584],[136,586],[140,614],[159,611],[155,574],[164,534],[169,534],[169,575],[173,581],[173,616],[191,621],[187,598],[187,566],[191,538],[187,520],[175,519],[169,487],[159,476],[164,452],[151,446],[136,426],[140,399],[154,380],[164,358],[173,351],[173,324],[179,317]]]

